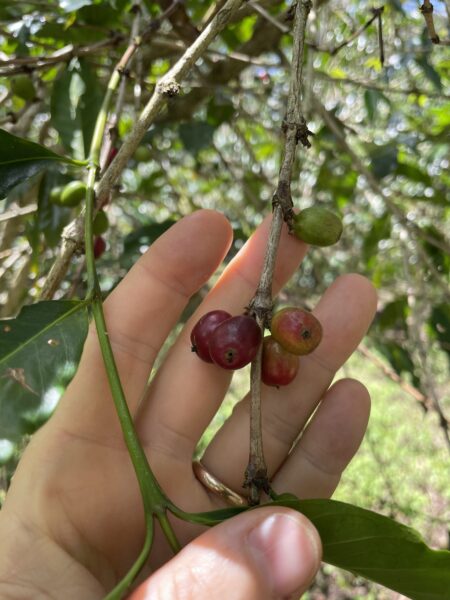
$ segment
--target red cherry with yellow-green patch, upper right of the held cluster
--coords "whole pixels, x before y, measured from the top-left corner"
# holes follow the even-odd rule
[[[270,330],[285,350],[297,355],[309,354],[322,339],[322,325],[316,317],[292,306],[273,315]]]

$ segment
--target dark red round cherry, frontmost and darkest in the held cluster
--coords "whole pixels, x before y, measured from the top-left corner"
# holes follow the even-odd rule
[[[224,369],[241,369],[255,358],[261,337],[254,319],[245,315],[231,317],[218,325],[210,337],[211,358]]]

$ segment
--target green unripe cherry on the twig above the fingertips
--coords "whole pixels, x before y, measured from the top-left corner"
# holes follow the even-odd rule
[[[294,216],[295,236],[313,246],[331,246],[342,234],[342,221],[331,210],[320,206],[305,208]]]

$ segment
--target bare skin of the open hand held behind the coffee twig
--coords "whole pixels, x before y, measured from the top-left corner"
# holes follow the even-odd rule
[[[189,298],[230,247],[227,220],[209,210],[181,219],[139,259],[104,305],[149,462],[166,494],[187,511],[224,506],[193,475],[192,456],[231,379],[230,372],[191,353],[190,331],[209,310],[243,312],[258,283],[269,227],[267,218],[228,264],[148,387],[155,358]],[[283,231],[274,295],[306,250]],[[280,390],[262,386],[265,455],[278,493],[331,496],[359,447],[370,411],[368,392],[355,380],[332,380],[375,310],[376,295],[365,278],[338,278],[314,309],[323,340],[314,353],[301,357],[296,380]],[[237,404],[202,459],[238,492],[248,460],[248,407],[248,397]],[[28,445],[0,512],[0,598],[102,598],[140,552],[143,522],[139,488],[91,326],[79,369],[53,417]],[[298,597],[320,562],[317,532],[289,509],[259,508],[206,531],[176,519],[173,525],[185,547],[172,558],[156,527],[144,583],[133,600]]]

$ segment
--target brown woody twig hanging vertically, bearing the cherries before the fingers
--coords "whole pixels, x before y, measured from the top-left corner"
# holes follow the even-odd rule
[[[305,32],[311,6],[311,0],[299,0],[295,7],[291,81],[286,118],[282,125],[285,142],[278,185],[272,199],[273,217],[264,257],[264,265],[257,290],[248,308],[249,314],[256,318],[262,334],[264,333],[264,327],[269,325],[271,318],[273,305],[272,282],[281,229],[284,221],[286,221],[290,228],[293,218],[291,179],[296,147],[298,142],[301,142],[306,148],[311,146],[308,139],[311,132],[306,126],[301,109]],[[255,360],[252,362],[251,368],[250,453],[245,471],[244,486],[249,489],[249,503],[252,505],[259,504],[262,491],[270,493],[270,483],[267,476],[262,441],[261,361],[262,346]]]

